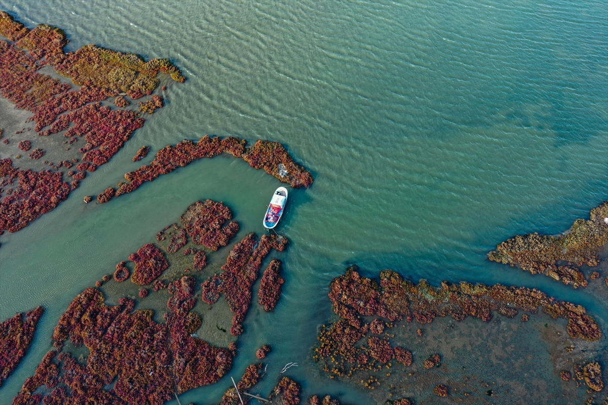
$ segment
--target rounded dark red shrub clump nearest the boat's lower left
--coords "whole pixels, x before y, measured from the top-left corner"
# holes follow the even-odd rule
[[[211,250],[226,246],[238,232],[236,221],[222,228],[227,220],[232,219],[232,212],[223,203],[213,200],[190,205],[180,219],[192,241]]]

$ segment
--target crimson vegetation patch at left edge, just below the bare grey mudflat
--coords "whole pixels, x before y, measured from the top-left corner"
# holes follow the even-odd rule
[[[70,185],[62,181],[61,172],[35,172],[13,168],[10,159],[0,160],[0,177],[19,186],[0,202],[0,230],[16,232],[54,209],[69,195]]]

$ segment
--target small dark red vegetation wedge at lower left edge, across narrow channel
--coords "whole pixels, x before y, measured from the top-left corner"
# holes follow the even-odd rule
[[[26,313],[25,320],[23,314],[18,313],[0,324],[0,387],[26,355],[43,312],[44,309],[38,307]]]

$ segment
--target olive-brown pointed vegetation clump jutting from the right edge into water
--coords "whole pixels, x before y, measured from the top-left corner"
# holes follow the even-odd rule
[[[531,274],[545,274],[573,287],[586,287],[587,281],[575,266],[599,264],[598,253],[608,243],[608,202],[591,210],[590,219],[577,219],[558,236],[532,233],[518,235],[500,243],[488,254],[490,260],[519,266]],[[568,265],[559,265],[567,262]]]

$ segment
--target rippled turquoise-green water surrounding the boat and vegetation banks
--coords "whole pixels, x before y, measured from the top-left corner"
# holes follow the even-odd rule
[[[0,0],[0,9],[29,27],[61,27],[68,50],[95,43],[169,57],[188,78],[169,84],[167,106],[66,202],[0,237],[0,319],[47,308],[2,403],[33,373],[72,298],[191,203],[229,205],[238,237],[263,231],[278,180],[230,157],[83,205],[139,167],[131,157],[141,145],[156,152],[204,134],[280,141],[315,177],[290,190],[283,296],[275,313],[250,311],[235,377],[270,342],[272,366],[300,363],[290,375],[305,395],[365,403],[306,366],[330,316],[327,286],[350,263],[434,284],[539,287],[586,305],[606,330],[607,308],[589,293],[486,260],[502,240],[559,233],[608,199],[606,2]],[[182,403],[214,403],[226,388],[223,380]]]

